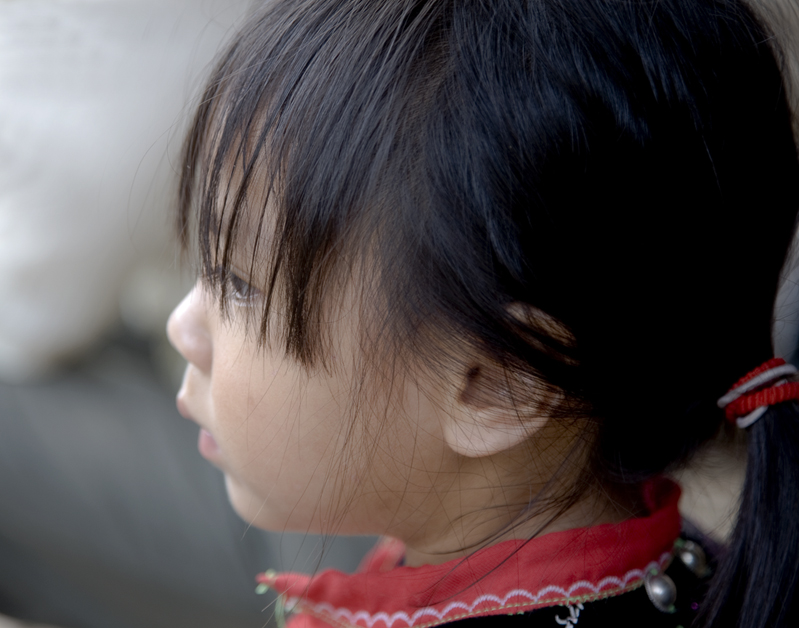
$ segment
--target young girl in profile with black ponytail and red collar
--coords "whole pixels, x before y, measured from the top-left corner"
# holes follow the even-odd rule
[[[796,625],[776,54],[738,0],[250,20],[186,144],[178,406],[254,525],[392,539],[263,574],[292,626]],[[725,418],[749,462],[708,555],[662,474]]]

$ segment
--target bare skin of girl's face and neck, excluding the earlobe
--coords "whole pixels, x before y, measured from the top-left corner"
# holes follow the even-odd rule
[[[334,367],[309,370],[270,349],[278,342],[258,344],[244,324],[249,308],[260,305],[251,296],[257,290],[243,282],[232,288],[243,296],[223,317],[198,282],[172,313],[167,332],[188,361],[178,408],[200,426],[200,453],[223,471],[233,507],[253,525],[388,534],[405,542],[406,564],[443,562],[514,522],[564,459],[581,472],[574,435],[565,436],[556,423],[542,419],[535,428],[541,444],[533,451],[515,413],[511,424],[454,424],[464,404],[471,407],[461,385],[402,377],[380,385],[380,377],[364,377],[356,367],[357,307],[338,308],[332,317]],[[478,451],[486,443],[495,453]],[[605,498],[592,499],[555,521],[547,513],[531,517],[504,536],[526,538],[542,528],[629,514]]]

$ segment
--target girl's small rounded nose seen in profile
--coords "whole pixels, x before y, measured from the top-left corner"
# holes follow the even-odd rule
[[[207,299],[198,282],[170,314],[166,335],[180,355],[207,373],[211,370],[213,343],[206,306]]]

